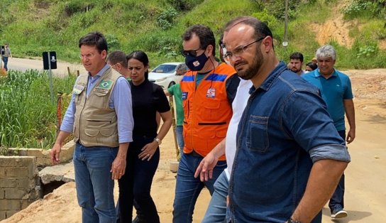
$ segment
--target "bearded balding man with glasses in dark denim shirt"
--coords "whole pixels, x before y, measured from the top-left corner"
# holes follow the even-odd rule
[[[270,29],[228,22],[225,56],[253,82],[237,133],[229,182],[231,222],[321,222],[350,156],[319,90],[287,70]]]

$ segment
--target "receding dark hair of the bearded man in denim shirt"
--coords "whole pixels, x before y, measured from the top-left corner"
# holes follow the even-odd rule
[[[254,38],[256,40],[260,38],[265,38],[267,36],[270,36],[273,40],[272,32],[270,28],[268,28],[267,24],[263,23],[262,21],[258,20],[258,18],[252,17],[252,16],[238,16],[236,18],[233,18],[231,21],[228,21],[228,23],[225,24],[224,31],[229,31],[233,26],[236,26],[238,24],[246,24],[248,26],[251,26],[254,30]],[[272,48],[273,41],[272,41]]]

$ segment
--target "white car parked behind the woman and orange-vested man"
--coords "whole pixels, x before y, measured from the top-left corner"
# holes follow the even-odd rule
[[[183,62],[165,62],[155,67],[149,72],[149,80],[157,85],[160,85],[162,89],[167,89],[172,85],[180,83],[183,75],[175,75],[177,65]]]

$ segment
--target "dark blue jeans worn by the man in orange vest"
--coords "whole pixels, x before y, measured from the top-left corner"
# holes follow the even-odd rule
[[[204,186],[208,188],[210,194],[214,192],[214,182],[226,168],[226,161],[217,162],[213,170],[213,178],[206,182],[201,182],[199,178],[194,178],[194,172],[202,161],[203,157],[184,153],[181,156],[177,170],[177,182],[175,185],[175,201],[173,203],[173,222],[189,223],[193,219],[194,205],[197,197]]]

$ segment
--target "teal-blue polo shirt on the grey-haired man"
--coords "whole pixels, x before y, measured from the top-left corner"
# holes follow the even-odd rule
[[[343,100],[353,99],[350,78],[343,74],[343,72],[334,70],[333,75],[326,79],[326,77],[321,75],[319,69],[308,72],[302,75],[302,77],[320,89],[321,97],[327,104],[327,111],[333,120],[336,130],[345,130]]]

